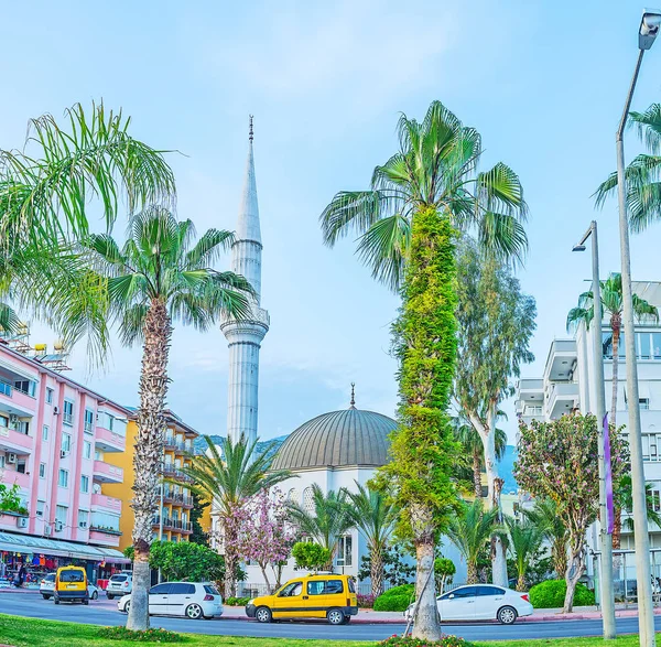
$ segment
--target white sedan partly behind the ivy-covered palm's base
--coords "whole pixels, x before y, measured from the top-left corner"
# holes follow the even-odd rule
[[[458,586],[436,597],[441,622],[449,621],[492,621],[511,625],[519,616],[532,615],[532,604],[528,593],[494,584],[469,584]],[[415,603],[404,612],[409,619]]]

